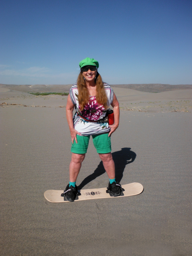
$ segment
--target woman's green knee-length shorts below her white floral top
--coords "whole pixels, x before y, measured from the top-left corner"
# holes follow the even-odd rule
[[[97,135],[92,135],[93,144],[97,149],[97,153],[106,154],[111,152],[111,138],[108,137],[109,133],[101,133]],[[77,143],[74,140],[72,144],[71,152],[75,154],[85,154],[87,153],[87,148],[89,145],[90,135],[88,136],[79,136],[77,135]]]

